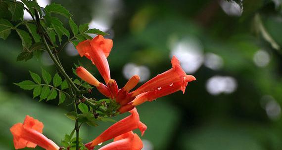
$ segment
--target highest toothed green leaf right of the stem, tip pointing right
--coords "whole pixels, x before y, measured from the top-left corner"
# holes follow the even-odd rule
[[[71,17],[70,12],[65,7],[63,7],[60,4],[56,4],[56,3],[51,3],[51,4],[47,5],[45,7],[45,11],[47,13],[55,13],[55,14],[63,15],[67,18]]]

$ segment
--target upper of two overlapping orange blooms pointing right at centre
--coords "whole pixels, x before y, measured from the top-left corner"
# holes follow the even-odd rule
[[[155,76],[141,85],[138,89],[132,92],[133,96],[137,96],[144,92],[153,91],[157,88],[162,88],[173,83],[181,83],[180,90],[182,90],[184,93],[187,83],[195,80],[196,78],[193,75],[186,75],[175,56],[173,56],[171,64],[172,68],[170,70]]]

